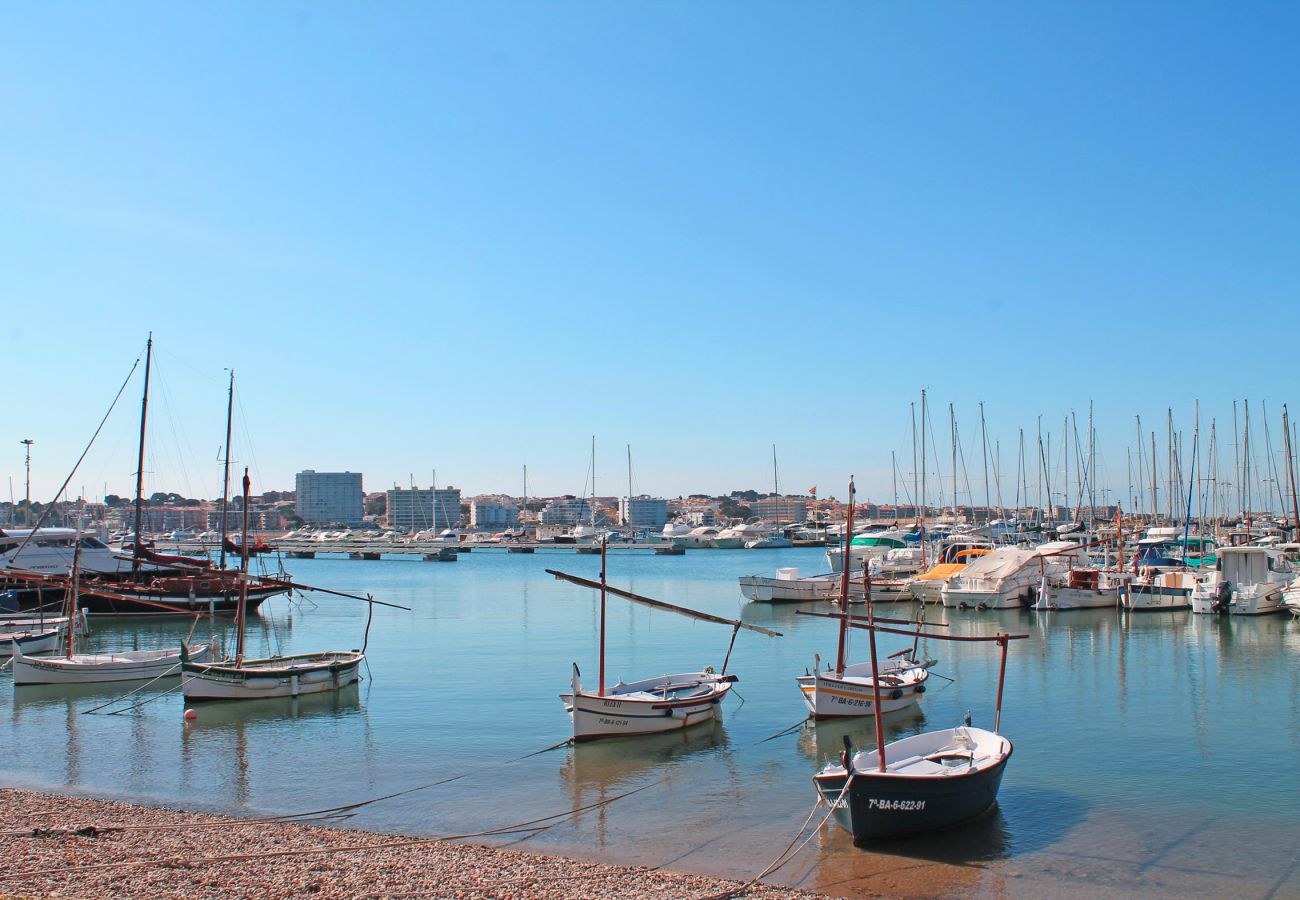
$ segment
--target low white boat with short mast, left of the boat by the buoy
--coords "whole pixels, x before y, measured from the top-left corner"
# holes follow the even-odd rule
[[[79,537],[79,535],[78,535]],[[81,587],[81,542],[73,553],[73,571],[64,601],[68,628],[64,635],[64,654],[32,657],[20,644],[13,649],[14,684],[99,684],[104,682],[136,682],[181,674],[182,648],[160,650],[125,650],[121,653],[77,653],[78,624],[77,598]],[[52,649],[52,648],[51,648]],[[199,662],[212,655],[212,645],[204,645],[191,658]]]

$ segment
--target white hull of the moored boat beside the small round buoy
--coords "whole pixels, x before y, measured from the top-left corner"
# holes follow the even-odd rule
[[[186,662],[181,691],[186,700],[259,700],[325,693],[360,680],[363,659],[361,653],[344,652],[250,659],[239,667]]]

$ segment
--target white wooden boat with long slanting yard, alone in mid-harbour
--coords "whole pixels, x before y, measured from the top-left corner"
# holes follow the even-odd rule
[[[662,600],[651,600],[634,594],[630,590],[610,587],[606,581],[606,550],[608,541],[601,542],[601,580],[568,575],[566,572],[547,568],[547,575],[556,579],[594,588],[601,592],[601,680],[595,691],[582,688],[582,674],[577,663],[573,663],[573,682],[569,693],[562,693],[564,710],[573,719],[573,740],[586,741],[597,737],[615,737],[624,735],[653,735],[664,731],[680,731],[694,724],[722,718],[722,702],[731,691],[732,684],[738,679],[727,674],[727,663],[731,661],[732,646],[736,644],[736,635],[741,628],[757,631],[768,637],[780,637],[780,632],[768,631],[759,626],[753,626],[738,619],[724,619],[708,613],[701,613],[685,606],[675,606]],[[698,622],[712,622],[732,627],[732,642],[727,648],[723,658],[722,671],[714,671],[712,666],[705,667],[699,672],[679,672],[675,675],[660,675],[640,682],[619,682],[612,687],[604,683],[604,605],[606,594],[615,594],[634,603],[641,603],[656,610],[677,613]]]

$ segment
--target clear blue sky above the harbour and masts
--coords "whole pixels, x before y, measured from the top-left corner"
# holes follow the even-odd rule
[[[1297,384],[1297,43],[1286,3],[5,4],[0,476],[31,438],[49,499],[150,333],[186,496],[229,369],[255,490],[578,494],[594,436],[601,493],[629,446],[637,493],[767,490],[775,445],[887,501],[922,389],[949,490],[948,403],[1006,494],[1089,402],[1112,498],[1139,415],[1164,458],[1199,403],[1231,470],[1234,399],[1280,453]],[[139,375],[73,496],[131,492]]]

